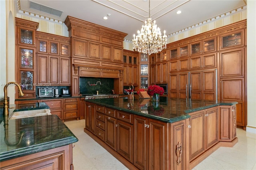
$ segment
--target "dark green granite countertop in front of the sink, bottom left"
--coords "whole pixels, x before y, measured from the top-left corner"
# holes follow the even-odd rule
[[[77,141],[56,115],[4,119],[0,124],[0,162]]]

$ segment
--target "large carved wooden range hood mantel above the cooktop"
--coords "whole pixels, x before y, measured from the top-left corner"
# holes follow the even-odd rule
[[[67,16],[71,38],[72,96],[79,95],[79,77],[114,78],[123,93],[123,43],[126,33]]]

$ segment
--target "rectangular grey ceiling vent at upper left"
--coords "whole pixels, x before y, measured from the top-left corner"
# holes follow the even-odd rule
[[[41,12],[45,12],[47,14],[51,14],[51,15],[54,15],[54,16],[58,16],[58,17],[60,17],[61,14],[62,14],[62,11],[55,10],[55,9],[50,8],[48,6],[44,6],[44,5],[41,5],[41,4],[32,2],[32,1],[29,1],[29,8],[34,9],[34,10],[38,10],[38,11],[41,11]]]

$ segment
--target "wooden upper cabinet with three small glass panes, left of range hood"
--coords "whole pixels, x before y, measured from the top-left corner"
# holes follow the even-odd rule
[[[52,41],[54,38],[55,41]],[[70,38],[36,32],[38,84],[41,86],[70,83]]]

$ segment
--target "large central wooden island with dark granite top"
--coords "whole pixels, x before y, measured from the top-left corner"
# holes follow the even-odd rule
[[[236,102],[86,100],[84,131],[129,169],[192,169],[236,137]]]

